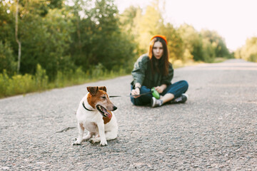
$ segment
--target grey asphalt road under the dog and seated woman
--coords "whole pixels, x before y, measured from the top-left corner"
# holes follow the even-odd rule
[[[129,95],[131,76],[0,100],[0,170],[257,170],[257,63],[175,70],[184,104],[136,107],[112,98],[119,135],[105,147],[71,143],[87,86]]]

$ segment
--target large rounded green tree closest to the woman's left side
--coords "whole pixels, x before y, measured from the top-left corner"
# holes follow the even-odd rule
[[[74,1],[71,12],[75,31],[69,51],[76,66],[86,71],[101,63],[108,70],[119,70],[131,64],[133,39],[119,27],[114,1]]]

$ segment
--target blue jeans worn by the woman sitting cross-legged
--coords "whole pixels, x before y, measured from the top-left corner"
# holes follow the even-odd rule
[[[131,86],[131,90],[132,89],[133,89],[133,86]],[[174,95],[174,98],[178,98],[183,93],[186,93],[186,90],[188,90],[187,81],[178,81],[168,86],[165,90],[163,90],[163,93],[160,93],[160,95],[171,93]],[[146,86],[141,86],[141,90],[140,90],[141,94],[148,93],[148,92],[151,92],[151,88],[147,88]],[[131,102],[133,103],[133,105],[147,105],[148,103],[151,103],[152,97],[153,95],[151,93],[148,93],[146,95],[141,95],[138,98],[131,97]]]

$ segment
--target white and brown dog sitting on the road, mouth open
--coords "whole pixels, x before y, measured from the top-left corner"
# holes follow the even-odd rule
[[[89,93],[82,98],[76,111],[78,120],[79,138],[73,145],[81,145],[84,140],[91,143],[100,142],[107,145],[107,140],[114,140],[118,134],[118,124],[114,113],[116,106],[111,103],[105,86],[87,87]],[[83,137],[84,130],[88,130]]]

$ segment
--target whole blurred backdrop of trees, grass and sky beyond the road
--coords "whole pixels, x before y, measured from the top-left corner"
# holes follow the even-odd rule
[[[155,34],[166,36],[175,68],[257,62],[254,8],[250,0],[2,0],[0,98],[130,74]]]

